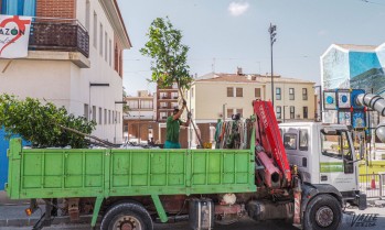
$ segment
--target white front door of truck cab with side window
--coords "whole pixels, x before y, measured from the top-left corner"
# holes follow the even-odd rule
[[[321,130],[320,183],[340,191],[357,190],[351,136],[346,130]]]

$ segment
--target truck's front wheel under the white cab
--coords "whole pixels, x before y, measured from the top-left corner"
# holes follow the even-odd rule
[[[342,219],[339,200],[328,194],[314,197],[308,204],[303,215],[304,230],[335,230]]]

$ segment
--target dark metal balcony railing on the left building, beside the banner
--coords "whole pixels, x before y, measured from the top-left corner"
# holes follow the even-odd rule
[[[77,20],[34,18],[29,50],[79,52],[89,56],[89,35]]]

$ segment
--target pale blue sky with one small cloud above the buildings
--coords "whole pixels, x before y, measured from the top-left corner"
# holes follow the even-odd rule
[[[320,83],[320,56],[332,44],[385,42],[384,0],[118,0],[132,48],[125,52],[129,95],[154,91],[150,59],[139,50],[156,18],[169,17],[190,47],[191,74],[270,73],[268,26],[277,25],[274,73]],[[215,58],[215,61],[214,61]]]

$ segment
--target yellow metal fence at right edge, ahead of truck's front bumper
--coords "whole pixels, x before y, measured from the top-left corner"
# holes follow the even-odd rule
[[[382,198],[385,196],[385,174],[360,175],[360,190],[367,198]]]

